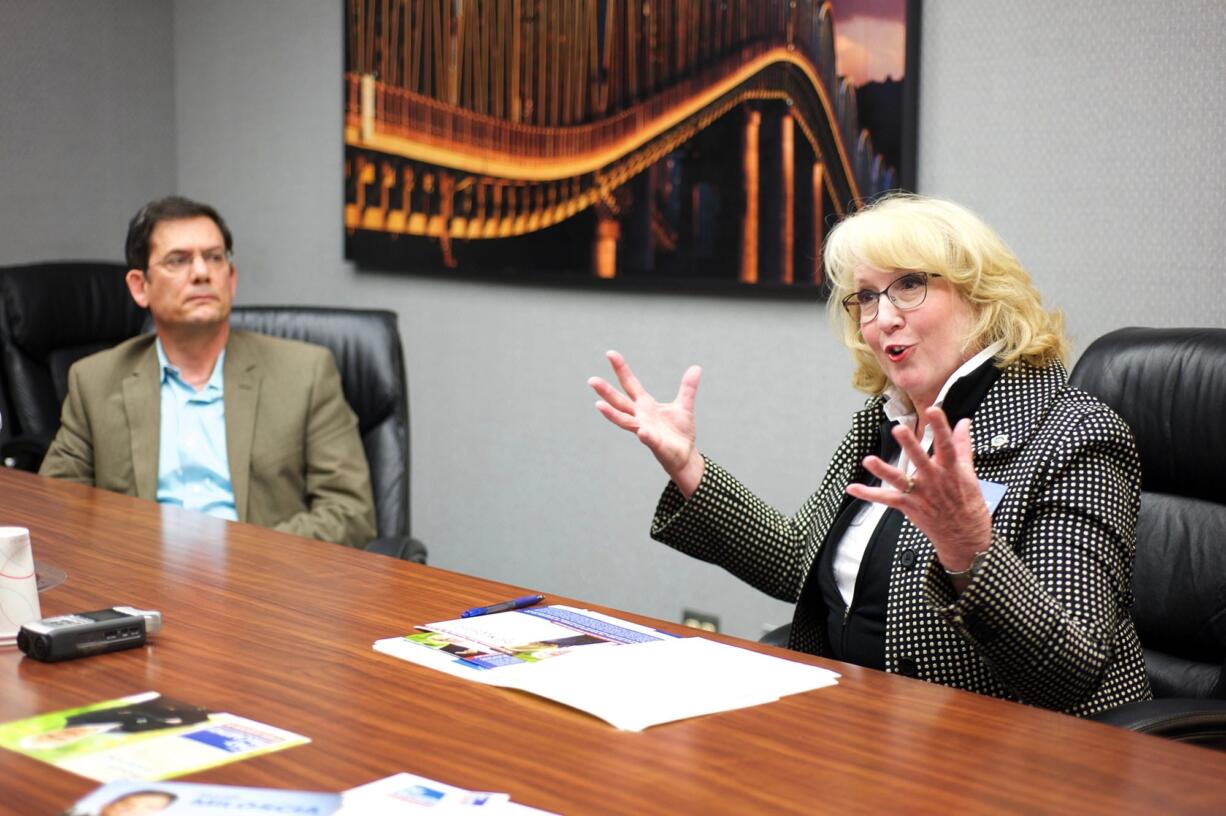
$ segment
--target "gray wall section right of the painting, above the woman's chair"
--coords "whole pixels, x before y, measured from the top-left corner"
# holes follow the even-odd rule
[[[920,187],[978,211],[1064,309],[1222,326],[1226,4],[926,4]]]

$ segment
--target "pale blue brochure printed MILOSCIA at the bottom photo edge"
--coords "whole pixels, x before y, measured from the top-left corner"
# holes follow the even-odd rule
[[[218,814],[337,814],[341,794],[273,788],[239,788],[190,782],[108,782],[63,816],[158,814],[159,816],[216,816]]]

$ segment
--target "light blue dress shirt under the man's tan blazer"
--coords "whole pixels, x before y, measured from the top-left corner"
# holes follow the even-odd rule
[[[226,453],[226,402],[222,349],[213,374],[200,391],[183,380],[157,341],[162,368],[162,436],[158,442],[157,500],[210,516],[238,521],[229,457]]]

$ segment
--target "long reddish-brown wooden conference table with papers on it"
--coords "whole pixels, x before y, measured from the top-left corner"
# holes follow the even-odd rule
[[[524,587],[2,468],[0,524],[28,527],[34,557],[67,573],[44,615],[164,616],[141,649],[58,664],[0,649],[0,722],[159,691],[313,740],[190,780],[343,790],[408,771],[562,814],[1226,811],[1226,755],[720,636],[842,680],[618,731],[370,648]],[[94,787],[0,751],[2,814],[55,814]]]

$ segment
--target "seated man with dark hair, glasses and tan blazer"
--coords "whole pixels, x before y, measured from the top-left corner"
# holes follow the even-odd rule
[[[72,366],[39,473],[362,546],[370,473],[332,354],[230,331],[232,249],[207,205],[136,213],[128,287],[156,332]]]

